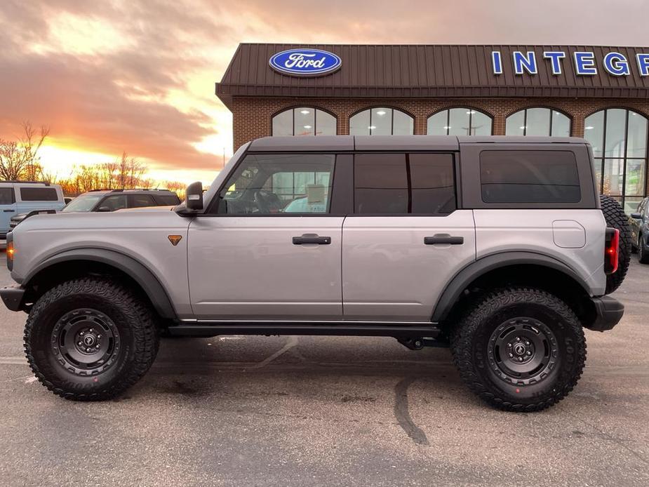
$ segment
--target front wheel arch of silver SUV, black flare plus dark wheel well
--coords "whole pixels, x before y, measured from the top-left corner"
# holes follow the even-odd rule
[[[161,318],[178,318],[169,295],[150,269],[128,255],[105,248],[76,248],[42,261],[22,280],[22,287],[27,290],[25,301],[33,302],[47,288],[60,283],[61,274],[67,280],[68,276],[74,278],[96,273],[126,280],[135,291],[149,300]]]

